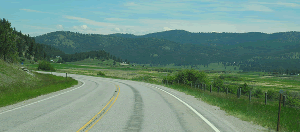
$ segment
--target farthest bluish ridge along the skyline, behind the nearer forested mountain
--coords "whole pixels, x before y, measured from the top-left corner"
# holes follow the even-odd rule
[[[170,30],[163,32],[156,32],[141,36],[133,34],[110,34],[109,36],[118,36],[124,38],[160,38],[170,41],[178,42],[181,44],[192,43],[199,45],[234,45],[244,42],[300,42],[300,32],[279,32],[279,33],[261,33],[261,32],[248,32],[248,33],[191,33],[185,30]]]

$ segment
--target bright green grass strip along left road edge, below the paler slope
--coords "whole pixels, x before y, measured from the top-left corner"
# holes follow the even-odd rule
[[[32,99],[40,95],[66,89],[78,84],[78,81],[51,74],[33,72],[36,80],[18,81],[9,87],[0,88],[0,107],[15,104],[24,100]]]

